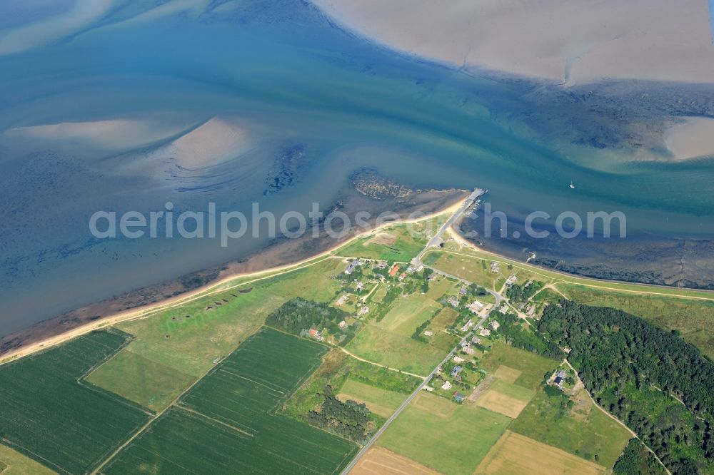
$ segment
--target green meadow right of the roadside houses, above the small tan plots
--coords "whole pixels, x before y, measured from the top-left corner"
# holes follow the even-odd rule
[[[502,342],[493,342],[491,350],[481,359],[481,367],[489,373],[496,374],[501,365],[511,369],[511,374],[513,370],[520,371],[521,375],[513,383],[528,389],[538,388],[543,382],[543,375],[553,372],[558,364],[560,362],[555,359],[544,358]]]

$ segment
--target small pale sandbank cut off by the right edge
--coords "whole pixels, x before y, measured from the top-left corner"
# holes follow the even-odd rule
[[[687,117],[665,132],[665,144],[678,160],[714,156],[714,119]]]

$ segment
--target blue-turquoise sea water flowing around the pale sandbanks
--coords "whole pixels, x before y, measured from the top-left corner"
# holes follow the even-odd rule
[[[298,1],[119,21],[131,14],[116,9],[67,39],[0,56],[0,133],[224,116],[251,124],[259,146],[187,180],[127,173],[146,150],[93,155],[0,136],[0,335],[266,244],[96,241],[87,225],[96,210],[161,210],[166,200],[178,210],[208,201],[247,210],[260,200],[306,213],[313,201],[334,203],[365,167],[421,188],[488,188],[514,220],[533,210],[622,210],[634,235],[714,234],[710,160],[630,160],[616,133],[565,111],[572,103],[562,114],[557,103],[536,110],[528,94],[538,85],[401,56]],[[592,146],[593,130],[615,146]],[[296,147],[305,163],[295,183],[263,195],[271,164]]]

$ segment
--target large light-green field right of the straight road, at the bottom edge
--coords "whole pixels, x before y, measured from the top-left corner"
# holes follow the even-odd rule
[[[426,392],[416,399],[377,444],[446,474],[473,474],[511,422],[487,409],[453,404]],[[443,404],[453,410],[444,411]]]

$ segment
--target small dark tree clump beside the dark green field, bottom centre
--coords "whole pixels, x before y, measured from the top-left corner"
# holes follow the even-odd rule
[[[323,403],[308,413],[310,424],[357,442],[371,438],[374,423],[371,422],[370,411],[364,403],[337,399],[329,384],[325,386],[322,395]]]

